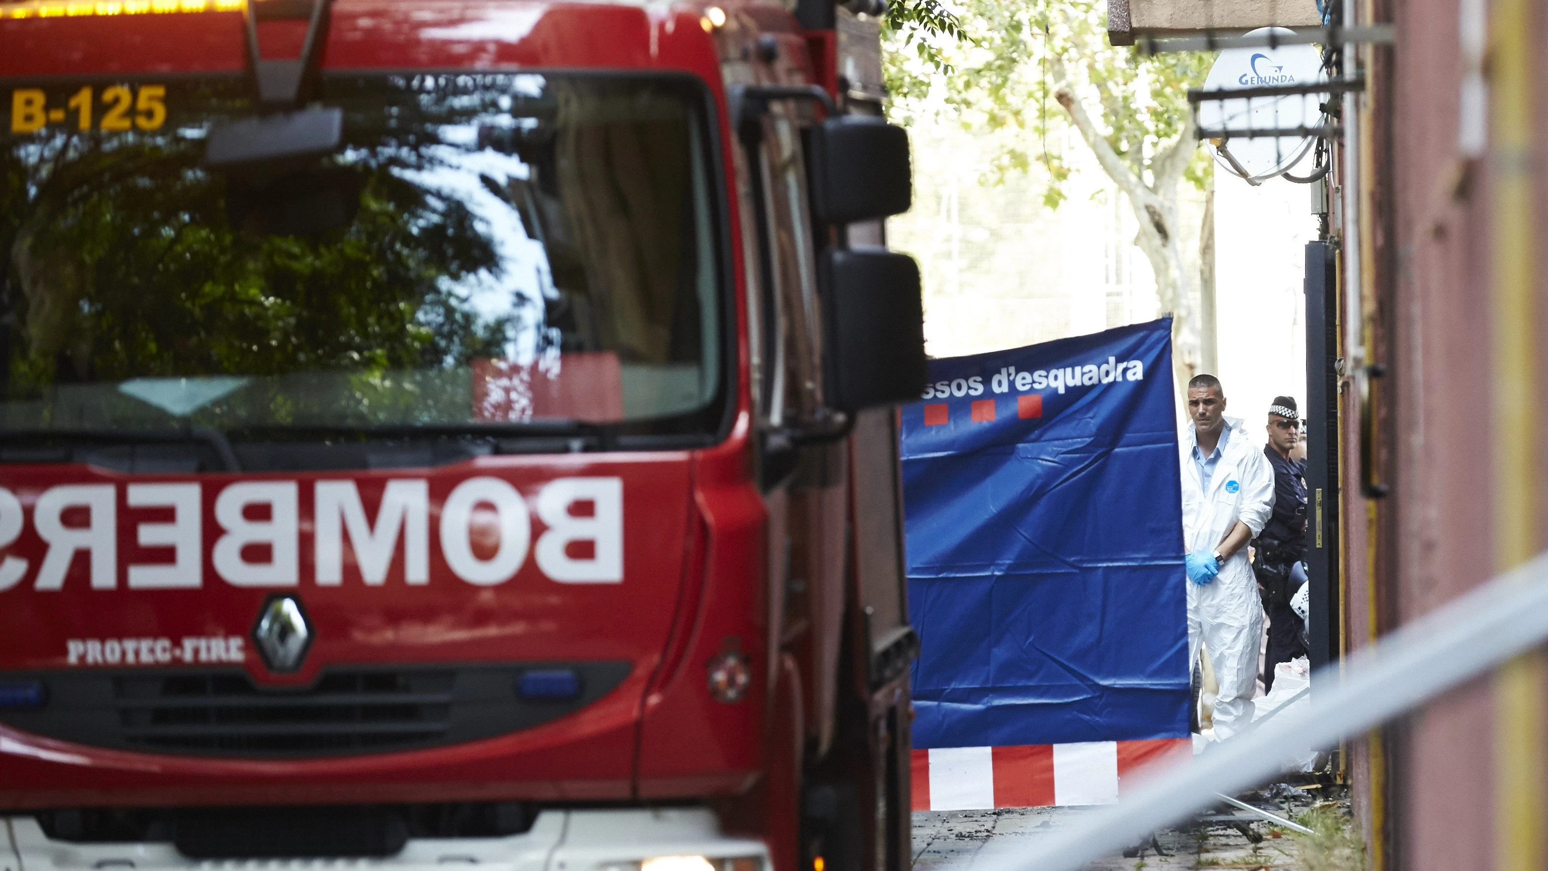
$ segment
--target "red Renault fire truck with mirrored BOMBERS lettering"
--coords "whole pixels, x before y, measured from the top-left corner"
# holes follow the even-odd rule
[[[878,12],[0,0],[0,869],[906,868]]]

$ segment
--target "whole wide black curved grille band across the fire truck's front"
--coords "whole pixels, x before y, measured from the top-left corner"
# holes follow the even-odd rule
[[[627,662],[334,666],[308,687],[263,687],[245,671],[3,673],[40,680],[39,708],[0,724],[94,747],[195,756],[307,758],[385,753],[531,728],[601,699]],[[568,694],[523,694],[523,674],[573,674]]]

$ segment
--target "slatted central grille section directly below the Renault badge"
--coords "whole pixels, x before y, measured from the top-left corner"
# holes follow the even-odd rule
[[[113,677],[128,744],[156,750],[311,753],[437,744],[450,728],[457,673],[347,671],[299,693],[245,674]]]

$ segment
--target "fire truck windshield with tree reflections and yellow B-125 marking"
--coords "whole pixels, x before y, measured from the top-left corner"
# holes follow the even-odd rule
[[[330,74],[336,150],[207,164],[249,90],[0,85],[0,440],[718,431],[701,85]]]

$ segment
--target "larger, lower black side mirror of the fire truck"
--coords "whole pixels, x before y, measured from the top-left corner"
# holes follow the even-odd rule
[[[913,257],[885,248],[822,254],[828,405],[847,412],[924,392],[924,298]]]

